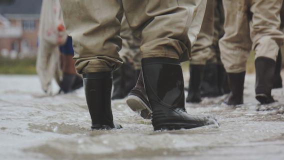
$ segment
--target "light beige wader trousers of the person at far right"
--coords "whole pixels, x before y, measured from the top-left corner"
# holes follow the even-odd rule
[[[226,72],[245,71],[251,49],[255,58],[276,60],[284,38],[279,30],[281,5],[282,0],[223,0],[225,33],[219,47]]]

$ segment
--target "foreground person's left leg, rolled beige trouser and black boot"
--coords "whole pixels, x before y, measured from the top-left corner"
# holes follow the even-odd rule
[[[73,40],[75,67],[83,74],[91,128],[120,128],[113,122],[110,96],[111,71],[122,63],[118,54],[122,3],[119,0],[60,0],[60,4],[66,31]]]

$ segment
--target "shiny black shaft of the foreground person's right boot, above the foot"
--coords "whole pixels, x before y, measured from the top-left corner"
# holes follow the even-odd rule
[[[142,59],[142,74],[149,103],[184,108],[184,84],[180,63],[173,58]]]

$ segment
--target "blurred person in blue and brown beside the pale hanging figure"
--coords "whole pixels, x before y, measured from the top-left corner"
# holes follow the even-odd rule
[[[62,25],[62,24],[61,24]],[[60,26],[60,24],[59,24]],[[61,53],[61,67],[63,71],[59,92],[70,92],[83,86],[81,76],[76,73],[72,37],[68,36],[66,42],[59,46]]]

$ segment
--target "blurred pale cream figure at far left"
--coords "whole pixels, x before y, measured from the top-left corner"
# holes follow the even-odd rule
[[[36,58],[36,72],[41,88],[51,94],[51,79],[55,77],[60,85],[60,62],[58,45],[63,44],[67,34],[57,30],[62,23],[61,9],[58,0],[42,0],[40,23],[38,31],[38,52]]]

